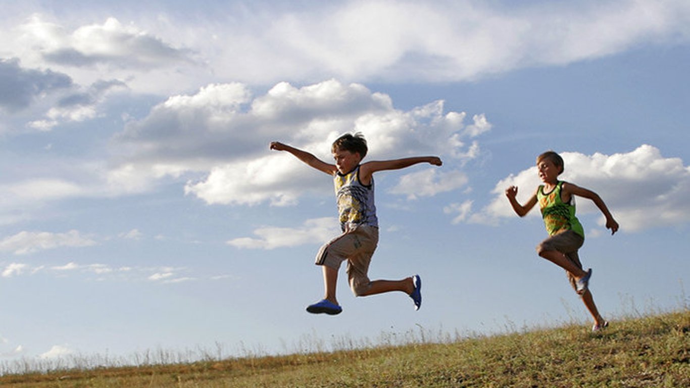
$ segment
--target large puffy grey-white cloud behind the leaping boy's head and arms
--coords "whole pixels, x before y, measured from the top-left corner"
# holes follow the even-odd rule
[[[111,171],[110,182],[136,188],[161,177],[203,173],[188,180],[185,192],[209,204],[295,204],[309,190],[326,193],[331,186],[322,174],[305,173],[290,155],[268,151],[269,142],[331,160],[331,142],[355,130],[366,135],[371,158],[442,155],[446,171],[451,169],[444,178],[450,179],[417,193],[433,195],[464,184],[464,176],[452,171],[453,160],[462,164],[480,148],[463,139],[491,128],[483,115],[465,126],[465,116],[444,112],[443,101],[396,110],[386,95],[335,80],[302,88],[281,83],[254,99],[242,84],[209,85],[195,95],[171,97],[128,123],[113,139],[126,161]]]

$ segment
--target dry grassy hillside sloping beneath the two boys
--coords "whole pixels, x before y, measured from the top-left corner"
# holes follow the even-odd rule
[[[690,387],[690,310],[288,356],[6,374],[1,387]]]

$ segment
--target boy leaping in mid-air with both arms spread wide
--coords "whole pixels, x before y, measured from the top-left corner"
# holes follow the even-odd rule
[[[311,153],[280,142],[270,143],[270,149],[287,151],[308,166],[332,175],[335,184],[342,234],[319,249],[315,264],[322,266],[325,296],[319,302],[310,304],[306,311],[330,315],[342,312],[342,307],[335,298],[335,284],[338,269],[344,261],[347,261],[348,280],[355,296],[403,291],[412,298],[415,310],[420,309],[422,280],[419,275],[402,280],[371,281],[368,278],[371,256],[379,240],[373,173],[397,170],[418,163],[440,166],[441,159],[425,156],[362,163],[368,148],[366,140],[360,133],[342,135],[333,142],[331,153],[333,153],[335,164],[326,163]]]

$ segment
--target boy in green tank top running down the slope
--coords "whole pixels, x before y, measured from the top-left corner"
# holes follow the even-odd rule
[[[584,229],[582,229],[578,218],[575,217],[574,196],[584,197],[594,202],[606,217],[606,227],[611,229],[611,234],[618,231],[618,222],[613,220],[609,208],[597,193],[558,180],[558,176],[564,168],[563,159],[558,153],[547,151],[539,155],[537,168],[539,177],[544,184],[537,188],[526,204],[521,205],[515,199],[517,186],[506,189],[506,196],[511,202],[513,210],[520,217],[524,217],[539,202],[549,238],[537,246],[537,253],[542,258],[566,270],[573,289],[582,297],[584,306],[594,318],[592,331],[598,331],[607,327],[609,322],[600,315],[588,289],[592,269],[583,271],[578,257],[578,249],[584,243]]]

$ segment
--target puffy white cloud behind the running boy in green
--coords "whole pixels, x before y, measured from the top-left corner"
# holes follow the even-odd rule
[[[680,158],[663,157],[653,146],[642,145],[629,153],[583,155],[563,152],[562,180],[589,188],[606,202],[621,231],[642,231],[690,222],[690,167]],[[540,184],[535,167],[498,182],[489,205],[472,215],[470,222],[495,222],[515,217],[504,195],[509,186],[518,186],[517,199],[526,202]],[[578,198],[578,214],[598,213],[591,201]],[[538,215],[538,209],[532,211]],[[600,217],[599,225],[604,225]]]

